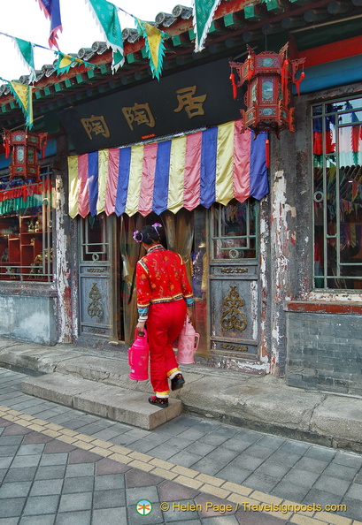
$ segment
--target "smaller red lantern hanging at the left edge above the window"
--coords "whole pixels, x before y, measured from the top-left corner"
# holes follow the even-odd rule
[[[40,182],[39,154],[45,153],[48,133],[10,132],[4,130],[5,157],[12,151],[12,163],[9,164],[10,180],[14,177],[35,179]]]

